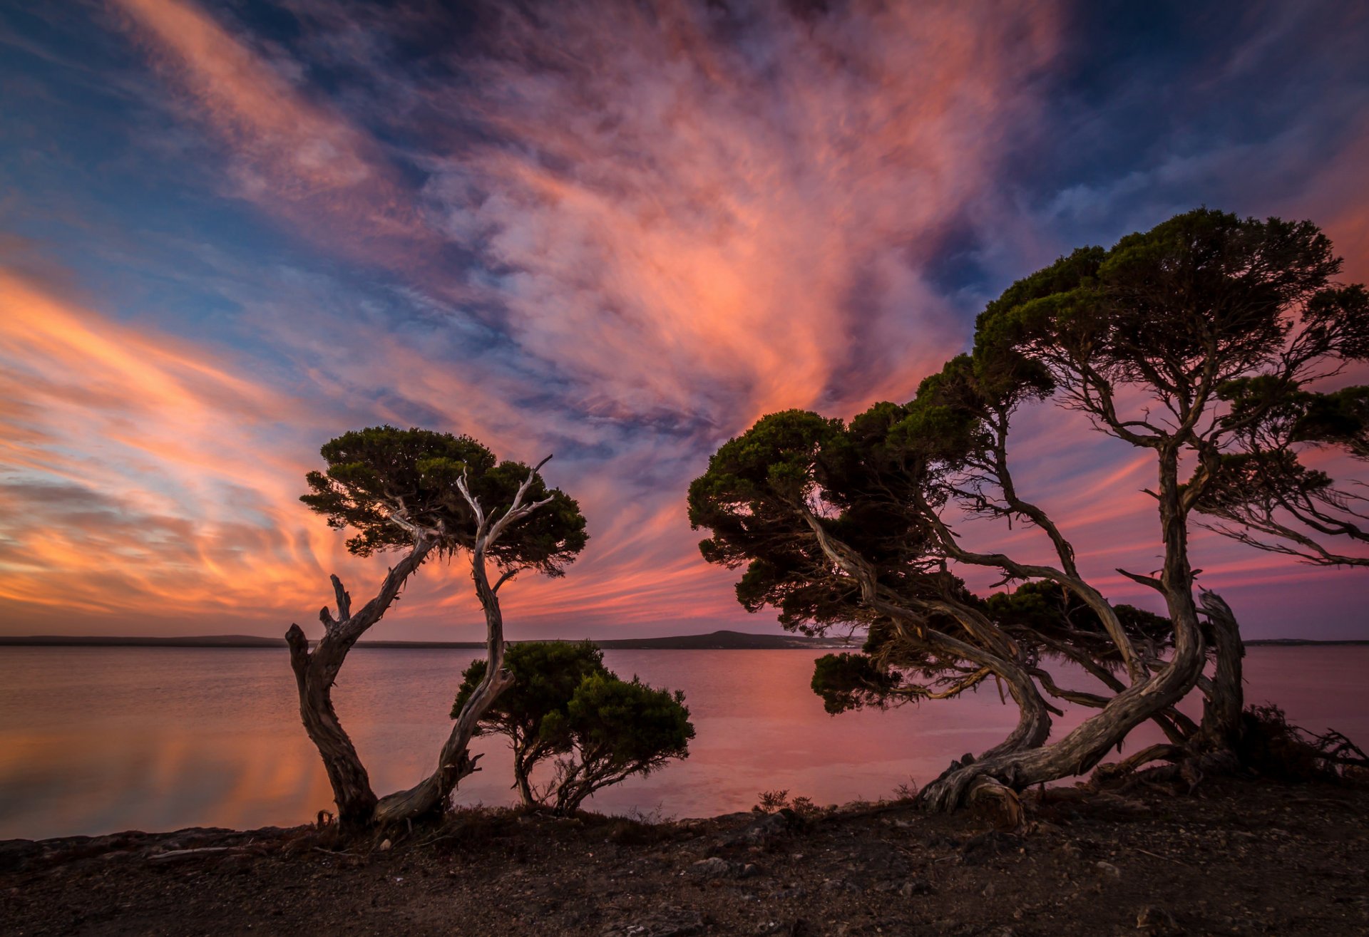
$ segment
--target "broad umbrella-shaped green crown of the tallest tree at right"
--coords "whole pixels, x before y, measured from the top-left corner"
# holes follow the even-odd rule
[[[979,316],[975,358],[1024,356],[1097,412],[1121,383],[1180,410],[1259,372],[1295,390],[1302,365],[1369,353],[1369,295],[1339,269],[1310,222],[1201,208],[1019,280]]]

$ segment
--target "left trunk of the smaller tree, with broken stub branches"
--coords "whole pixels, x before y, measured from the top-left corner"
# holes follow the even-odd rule
[[[300,695],[300,720],[323,759],[338,808],[338,823],[348,830],[370,825],[376,799],[366,766],[333,707],[333,684],[348,651],[393,605],[400,588],[423,564],[433,546],[428,539],[416,540],[409,553],[385,577],[375,598],[355,616],[352,596],[342,588],[342,581],[333,576],[338,617],[334,620],[327,607],[319,613],[323,637],[312,652],[304,629],[298,625],[290,625],[285,633],[286,644],[290,647],[290,669],[294,670]]]

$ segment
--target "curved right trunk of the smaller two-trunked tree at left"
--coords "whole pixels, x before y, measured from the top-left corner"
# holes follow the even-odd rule
[[[419,819],[446,808],[446,802],[463,777],[472,774],[479,755],[471,758],[468,747],[475,737],[475,726],[494,699],[513,684],[513,676],[504,669],[504,616],[500,601],[490,588],[485,572],[485,549],[476,546],[471,555],[471,577],[475,580],[475,594],[485,609],[485,678],[461,707],[456,725],[438,754],[437,767],[431,774],[408,791],[381,797],[375,806],[375,821],[379,825]]]

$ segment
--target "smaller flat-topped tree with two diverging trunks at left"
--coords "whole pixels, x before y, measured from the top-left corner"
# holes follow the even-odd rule
[[[304,728],[327,769],[338,821],[355,829],[441,810],[460,778],[475,770],[475,758],[467,752],[475,724],[511,680],[502,666],[498,591],[522,570],[564,575],[587,538],[579,506],[559,488],[546,487],[541,465],[500,462],[470,436],[372,427],[346,432],[320,451],[327,468],[308,473],[309,494],[301,501],[330,527],[353,531],[348,551],[402,554],[375,596],[355,611],[341,580],[331,577],[337,616],[327,607],[319,613],[323,637],[314,650],[298,625],[286,633]],[[348,651],[389,610],[408,579],[431,557],[456,554],[470,555],[485,611],[486,676],[442,745],[434,771],[415,788],[381,800],[338,721],[333,684]]]

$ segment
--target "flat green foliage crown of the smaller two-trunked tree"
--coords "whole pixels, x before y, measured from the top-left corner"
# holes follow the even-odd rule
[[[309,494],[300,501],[323,514],[329,527],[353,528],[348,550],[361,557],[413,544],[413,533],[396,517],[435,538],[444,553],[470,549],[476,521],[457,480],[464,477],[485,513],[497,517],[530,472],[522,462],[497,461],[470,436],[430,430],[356,430],[324,443],[320,454],[327,468],[305,476]],[[538,475],[524,501],[545,498],[550,503],[516,521],[490,549],[501,566],[560,576],[585,549],[579,505],[559,488],[549,490]]]

